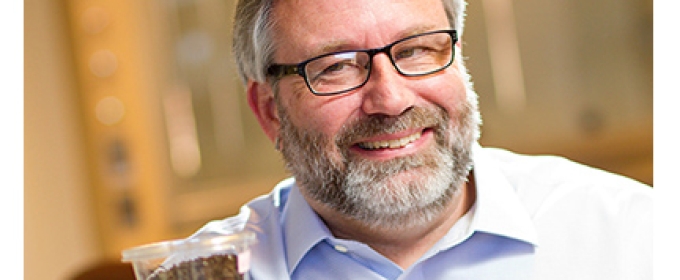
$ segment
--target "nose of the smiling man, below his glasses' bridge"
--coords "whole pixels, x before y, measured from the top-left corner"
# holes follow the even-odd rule
[[[371,77],[364,85],[364,113],[398,116],[413,107],[415,93],[404,86],[408,78],[397,72],[387,55],[374,56],[371,67]]]

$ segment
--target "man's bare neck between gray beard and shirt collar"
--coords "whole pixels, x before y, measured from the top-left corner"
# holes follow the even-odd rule
[[[371,228],[343,217],[333,209],[318,203],[310,202],[310,205],[324,220],[335,237],[365,243],[406,269],[444,237],[451,227],[472,207],[474,201],[474,176],[473,172],[470,172],[468,182],[461,186],[460,191],[440,215],[428,224],[414,228]]]

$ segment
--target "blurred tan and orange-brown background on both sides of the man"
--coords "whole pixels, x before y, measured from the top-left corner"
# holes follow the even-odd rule
[[[24,1],[25,279],[186,237],[287,176],[236,74],[234,6]],[[470,1],[482,145],[653,185],[652,6]]]

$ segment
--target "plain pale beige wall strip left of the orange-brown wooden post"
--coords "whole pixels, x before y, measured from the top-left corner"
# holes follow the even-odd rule
[[[24,275],[69,279],[98,245],[60,1],[24,1]]]

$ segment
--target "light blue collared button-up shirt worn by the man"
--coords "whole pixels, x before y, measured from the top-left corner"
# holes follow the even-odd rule
[[[558,157],[476,145],[476,202],[402,269],[335,238],[294,179],[194,236],[257,235],[251,279],[651,279],[651,188]]]

